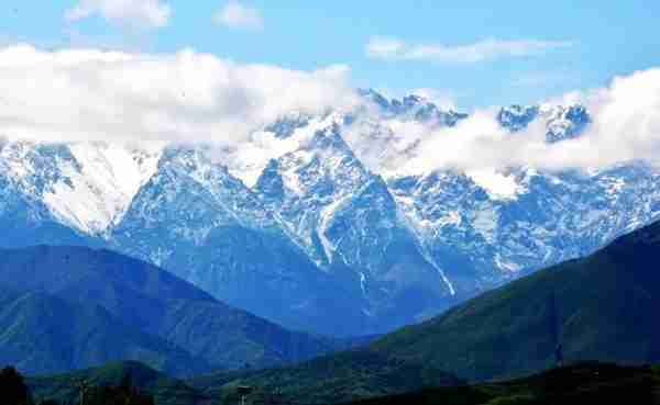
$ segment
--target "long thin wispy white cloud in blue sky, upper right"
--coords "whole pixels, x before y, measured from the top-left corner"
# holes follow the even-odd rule
[[[398,38],[374,37],[366,55],[387,60],[435,60],[441,63],[477,63],[502,57],[520,57],[572,46],[566,41],[484,40],[469,45],[408,44]]]

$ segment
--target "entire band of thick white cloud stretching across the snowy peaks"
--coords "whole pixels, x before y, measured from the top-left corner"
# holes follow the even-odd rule
[[[290,149],[279,145],[286,139],[258,131],[265,125],[292,112],[324,115],[361,106],[364,100],[349,79],[343,66],[299,71],[191,49],[150,55],[12,45],[0,48],[0,137],[204,142],[258,150],[256,160],[263,162]],[[344,128],[344,136],[370,168],[384,175],[659,162],[659,68],[549,102],[582,103],[593,122],[579,138],[548,144],[542,120],[510,134],[499,126],[497,108],[475,111],[455,127],[378,116],[377,109],[361,108],[364,119]]]

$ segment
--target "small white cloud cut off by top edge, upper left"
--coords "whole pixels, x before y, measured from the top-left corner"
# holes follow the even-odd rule
[[[95,14],[135,27],[163,27],[169,22],[172,8],[161,0],[79,0],[66,11],[65,19],[78,21]]]

